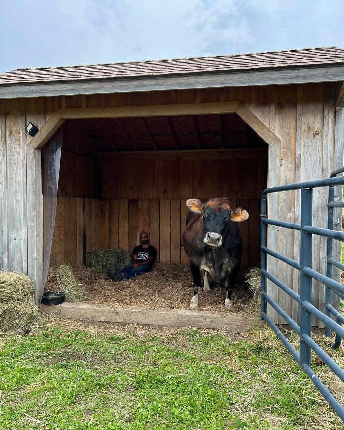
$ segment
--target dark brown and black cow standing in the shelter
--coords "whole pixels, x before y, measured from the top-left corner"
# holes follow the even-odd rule
[[[225,197],[210,199],[205,204],[199,199],[188,199],[189,213],[182,242],[190,261],[194,295],[190,308],[198,308],[198,292],[202,287],[201,271],[204,270],[204,291],[210,291],[207,272],[213,281],[224,283],[227,295],[225,307],[233,306],[232,289],[235,286],[242,255],[242,239],[237,223],[246,221],[246,210],[233,210]]]

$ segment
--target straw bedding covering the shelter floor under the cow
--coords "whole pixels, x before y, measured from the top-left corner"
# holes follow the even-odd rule
[[[89,292],[90,303],[140,309],[188,309],[193,294],[188,264],[156,263],[150,273],[120,282],[112,282],[104,273],[95,273],[86,267],[72,267],[72,270]],[[199,293],[199,309],[224,312],[226,289],[215,284],[213,287],[210,293]],[[233,312],[255,310],[252,293],[244,286],[243,274],[238,276],[233,301]]]

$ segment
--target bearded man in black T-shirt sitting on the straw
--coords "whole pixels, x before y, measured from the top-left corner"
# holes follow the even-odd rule
[[[150,272],[156,257],[156,249],[149,245],[149,236],[143,231],[140,234],[141,245],[133,249],[131,263],[121,269],[119,263],[114,264],[114,272],[110,269],[106,274],[112,281],[122,281]]]

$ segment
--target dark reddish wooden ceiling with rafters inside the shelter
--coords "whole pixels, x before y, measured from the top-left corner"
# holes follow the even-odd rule
[[[66,129],[98,153],[267,147],[236,114],[68,120]]]

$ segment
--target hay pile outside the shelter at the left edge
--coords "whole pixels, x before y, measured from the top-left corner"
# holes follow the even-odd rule
[[[18,331],[36,321],[34,285],[24,275],[0,272],[0,332]]]

